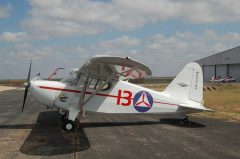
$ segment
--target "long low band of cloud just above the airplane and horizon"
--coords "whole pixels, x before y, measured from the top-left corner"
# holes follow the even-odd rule
[[[239,41],[239,33],[221,34],[206,30],[200,34],[176,32],[172,36],[157,34],[143,39],[122,36],[98,41],[89,46],[33,46],[29,43],[17,43],[10,49],[0,48],[0,68],[18,68],[18,72],[13,70],[15,73],[9,75],[9,78],[24,78],[19,72],[24,72],[27,68],[23,70],[21,67],[21,70],[19,66],[24,63],[28,65],[32,58],[35,72],[41,72],[44,76],[57,67],[81,67],[92,56],[105,54],[130,56],[148,65],[154,76],[174,76],[187,63],[236,47]],[[1,69],[0,74],[5,77]]]

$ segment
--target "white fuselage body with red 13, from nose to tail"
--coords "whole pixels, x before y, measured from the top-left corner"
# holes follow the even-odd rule
[[[37,80],[30,87],[33,97],[48,107],[57,107],[69,111],[79,110],[79,97],[82,88],[56,81]],[[87,89],[88,99],[94,89]],[[99,91],[83,109],[98,113],[144,113],[171,114],[181,113],[179,101],[167,97],[164,92],[157,92],[125,81],[114,81],[112,87]]]

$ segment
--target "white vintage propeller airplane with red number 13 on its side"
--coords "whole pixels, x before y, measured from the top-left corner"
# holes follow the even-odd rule
[[[25,83],[22,106],[28,89],[32,96],[47,107],[65,112],[63,129],[73,131],[81,112],[116,114],[175,114],[188,123],[189,113],[209,111],[203,106],[203,76],[197,63],[190,63],[163,92],[154,91],[126,81],[151,75],[144,64],[129,57],[96,56],[81,68],[73,70],[60,82],[30,81],[31,65]]]

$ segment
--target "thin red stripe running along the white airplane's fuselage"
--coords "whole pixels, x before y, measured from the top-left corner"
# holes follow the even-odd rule
[[[39,86],[39,88],[42,89],[48,89],[48,90],[56,90],[56,91],[64,91],[64,92],[73,92],[73,93],[81,93],[82,91],[79,90],[74,90],[74,89],[65,89],[65,88],[55,88],[55,87],[47,87],[47,86]],[[93,94],[92,92],[85,92],[85,94]],[[96,95],[98,96],[103,96],[103,97],[113,97],[113,98],[118,98],[116,95],[111,95],[111,94],[103,94],[103,93],[97,93]],[[121,97],[125,98],[125,97]],[[133,98],[131,98],[133,100]],[[153,101],[154,103],[159,103],[159,104],[164,104],[164,105],[171,105],[171,106],[177,106],[177,104],[171,104],[171,103],[164,103],[164,102],[157,102]]]

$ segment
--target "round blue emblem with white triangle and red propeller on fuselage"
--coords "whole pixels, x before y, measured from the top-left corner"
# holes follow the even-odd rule
[[[140,91],[133,98],[133,106],[138,112],[147,112],[152,108],[153,97],[146,91]]]

